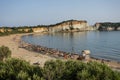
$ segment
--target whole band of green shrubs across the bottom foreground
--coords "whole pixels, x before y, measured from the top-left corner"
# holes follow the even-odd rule
[[[97,62],[54,60],[39,67],[9,58],[0,61],[0,80],[120,80],[120,72]]]

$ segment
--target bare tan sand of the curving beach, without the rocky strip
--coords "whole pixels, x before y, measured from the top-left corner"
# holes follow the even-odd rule
[[[23,48],[19,48],[19,41],[23,35],[27,34],[0,36],[0,46],[4,45],[9,47],[9,49],[12,51],[11,57],[26,60],[30,62],[30,64],[39,63],[40,66],[43,66],[47,60],[55,59],[47,55],[42,55],[36,52],[25,50]]]

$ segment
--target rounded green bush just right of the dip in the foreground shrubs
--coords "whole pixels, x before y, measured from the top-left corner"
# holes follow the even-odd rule
[[[64,70],[65,65],[60,60],[57,60],[56,62],[46,62],[43,68],[43,76],[46,80],[61,80]]]

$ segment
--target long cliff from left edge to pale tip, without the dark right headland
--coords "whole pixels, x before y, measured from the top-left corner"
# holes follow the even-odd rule
[[[27,33],[27,32],[64,32],[64,31],[85,31],[91,30],[87,21],[68,20],[54,25],[44,26],[25,26],[25,27],[6,27],[0,28],[0,33]]]

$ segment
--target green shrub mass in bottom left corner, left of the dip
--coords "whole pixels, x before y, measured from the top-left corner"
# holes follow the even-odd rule
[[[41,68],[19,59],[0,63],[0,80],[41,80]]]

